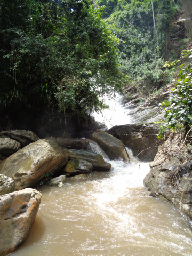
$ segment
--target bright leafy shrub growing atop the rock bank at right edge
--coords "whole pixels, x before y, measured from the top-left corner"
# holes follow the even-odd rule
[[[185,58],[192,57],[192,49],[181,53],[181,58],[172,63],[166,62],[164,66],[175,67],[180,63],[178,81],[172,90],[170,100],[164,100],[161,107],[165,111],[166,122],[159,137],[164,131],[185,129],[187,133],[192,127],[192,62],[181,63]]]

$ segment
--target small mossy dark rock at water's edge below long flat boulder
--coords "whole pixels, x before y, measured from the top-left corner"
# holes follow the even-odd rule
[[[70,174],[81,174],[81,173],[89,173],[93,169],[93,165],[82,159],[73,159],[69,160],[65,166],[64,171]]]

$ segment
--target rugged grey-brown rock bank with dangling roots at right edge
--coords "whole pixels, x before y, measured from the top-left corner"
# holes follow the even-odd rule
[[[143,183],[152,196],[167,199],[192,218],[192,154],[180,136],[159,146]]]

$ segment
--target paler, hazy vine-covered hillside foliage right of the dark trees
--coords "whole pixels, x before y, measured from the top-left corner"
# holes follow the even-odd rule
[[[98,1],[106,5],[108,22],[120,39],[121,71],[129,75],[133,84],[145,97],[158,90],[165,82],[162,78],[165,41],[169,37],[176,4],[173,0],[153,0],[156,29],[154,30],[151,0]],[[117,2],[116,6],[115,3]],[[103,14],[104,13],[104,14]]]

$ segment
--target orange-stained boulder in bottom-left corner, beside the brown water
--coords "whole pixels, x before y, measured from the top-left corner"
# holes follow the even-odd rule
[[[0,255],[15,251],[27,238],[33,225],[41,193],[26,188],[0,197]]]

